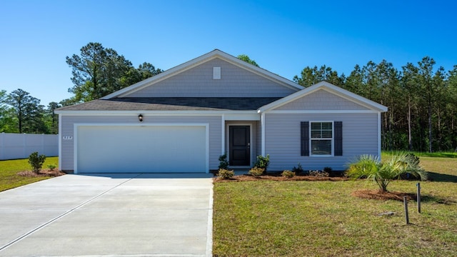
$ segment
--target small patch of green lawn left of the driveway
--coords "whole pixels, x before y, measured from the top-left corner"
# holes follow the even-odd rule
[[[58,157],[47,157],[43,168],[47,168],[49,164],[57,166],[58,163]],[[51,176],[19,176],[19,171],[31,171],[29,159],[0,161],[0,192],[51,178]]]

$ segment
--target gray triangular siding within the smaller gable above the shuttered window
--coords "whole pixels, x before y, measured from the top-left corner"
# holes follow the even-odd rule
[[[323,104],[328,103],[328,104]],[[343,99],[341,96],[325,90],[318,90],[313,94],[303,96],[296,101],[279,106],[275,110],[368,110],[353,101]]]

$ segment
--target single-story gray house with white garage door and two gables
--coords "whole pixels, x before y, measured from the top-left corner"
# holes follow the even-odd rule
[[[214,50],[59,114],[59,167],[74,173],[208,173],[270,156],[269,171],[346,169],[381,154],[377,104],[293,81]]]

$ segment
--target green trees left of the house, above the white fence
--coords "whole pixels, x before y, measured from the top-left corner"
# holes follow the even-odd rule
[[[0,91],[0,133],[59,133],[55,109],[99,99],[162,72],[147,62],[135,68],[114,49],[92,42],[83,46],[79,55],[66,56],[66,64],[71,67],[74,84],[68,89],[74,94],[69,99],[45,107],[22,89],[9,94]]]

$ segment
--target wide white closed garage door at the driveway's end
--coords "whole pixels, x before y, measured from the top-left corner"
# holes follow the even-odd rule
[[[206,172],[206,126],[78,126],[77,173]]]

